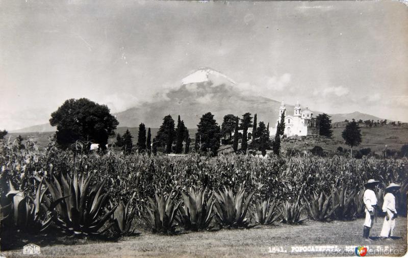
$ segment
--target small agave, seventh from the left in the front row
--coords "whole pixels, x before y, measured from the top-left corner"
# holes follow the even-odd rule
[[[255,209],[250,210],[250,213],[255,222],[262,225],[270,225],[282,215],[282,211],[277,211],[276,202],[271,201],[270,197],[266,200],[255,200]]]

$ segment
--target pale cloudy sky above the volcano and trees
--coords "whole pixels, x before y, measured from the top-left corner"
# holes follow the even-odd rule
[[[408,6],[0,0],[0,129],[46,123],[68,98],[158,101],[200,67],[247,94],[408,122]]]

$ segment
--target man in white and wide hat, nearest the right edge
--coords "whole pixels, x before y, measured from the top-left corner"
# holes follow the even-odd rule
[[[395,194],[401,188],[400,185],[391,183],[386,187],[386,195],[384,196],[384,204],[382,211],[386,213],[384,223],[381,229],[381,238],[389,238],[393,236],[395,219],[397,218],[397,210],[395,209]]]

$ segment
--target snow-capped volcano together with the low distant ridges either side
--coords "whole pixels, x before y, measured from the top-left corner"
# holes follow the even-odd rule
[[[270,123],[275,126],[278,118],[280,102],[262,96],[244,95],[236,88],[236,83],[226,75],[211,68],[198,69],[181,81],[181,86],[170,90],[165,97],[158,97],[156,101],[144,102],[137,107],[116,113],[119,126],[137,127],[144,123],[147,127],[157,128],[162,124],[166,115],[174,120],[180,115],[188,128],[196,128],[200,117],[211,112],[218,124],[222,124],[224,115],[234,114],[242,116],[249,112],[258,114],[258,122]],[[287,114],[293,115],[293,105],[286,105]],[[302,107],[304,109],[305,107]],[[322,112],[313,111],[315,115]],[[345,119],[382,120],[378,117],[354,112],[350,114],[331,114],[333,122]],[[35,125],[20,130],[22,132],[52,132],[55,127],[47,124]]]

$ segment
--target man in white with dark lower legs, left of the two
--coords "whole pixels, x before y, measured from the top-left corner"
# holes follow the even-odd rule
[[[363,238],[365,241],[371,241],[368,237],[370,236],[370,229],[373,226],[375,208],[377,206],[377,196],[375,196],[375,186],[379,181],[370,179],[364,184],[366,191],[364,191],[364,204],[366,205],[366,219],[364,220]]]

